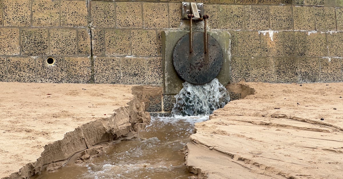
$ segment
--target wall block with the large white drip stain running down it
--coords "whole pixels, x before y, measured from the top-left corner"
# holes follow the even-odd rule
[[[261,35],[261,56],[283,56],[283,33],[267,31]]]

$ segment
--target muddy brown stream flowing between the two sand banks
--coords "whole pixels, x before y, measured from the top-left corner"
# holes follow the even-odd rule
[[[179,149],[189,142],[194,123],[204,120],[208,116],[152,117],[151,125],[140,132],[140,138],[115,143],[89,164],[63,166],[32,179],[188,178],[193,174],[188,172]]]

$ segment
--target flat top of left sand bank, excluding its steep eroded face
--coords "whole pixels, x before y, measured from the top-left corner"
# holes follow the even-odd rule
[[[66,132],[127,106],[131,88],[0,82],[0,178],[35,162],[43,146]]]

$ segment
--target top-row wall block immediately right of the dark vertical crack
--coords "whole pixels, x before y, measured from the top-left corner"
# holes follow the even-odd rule
[[[114,2],[91,2],[92,24],[94,27],[115,27],[116,7]]]

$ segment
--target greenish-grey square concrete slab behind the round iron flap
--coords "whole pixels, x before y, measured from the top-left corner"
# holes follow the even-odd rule
[[[177,42],[181,37],[188,34],[189,31],[163,31],[162,32],[162,67],[163,67],[163,81],[164,94],[175,95],[182,89],[182,80],[175,71],[173,65],[173,51]],[[228,32],[209,31],[215,40],[218,41],[223,51],[223,65],[221,71],[217,75],[219,82],[222,85],[228,84],[230,81],[230,64],[231,64],[231,49],[230,49],[230,34]],[[188,53],[188,47],[185,47],[185,53]]]

